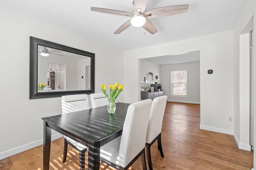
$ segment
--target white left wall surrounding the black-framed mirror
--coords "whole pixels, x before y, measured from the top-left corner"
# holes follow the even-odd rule
[[[41,118],[62,113],[61,98],[29,100],[29,36],[95,53],[95,92],[101,92],[101,83],[123,84],[123,52],[2,6],[0,16],[2,159],[42,144]],[[123,101],[123,94],[117,101]]]

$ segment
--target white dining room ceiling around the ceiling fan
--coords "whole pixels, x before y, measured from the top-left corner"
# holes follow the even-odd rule
[[[0,5],[78,33],[110,47],[128,51],[234,29],[247,0],[148,0],[146,10],[188,4],[188,12],[150,21],[151,35],[132,27],[114,35],[129,17],[90,11],[90,7],[132,12],[132,0],[0,0]],[[65,36],[63,37],[65,38]],[[133,38],[133,40],[132,40]]]

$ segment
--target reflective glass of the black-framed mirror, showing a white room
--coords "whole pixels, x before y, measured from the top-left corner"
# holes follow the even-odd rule
[[[38,83],[38,92],[90,90],[90,57],[38,45]]]

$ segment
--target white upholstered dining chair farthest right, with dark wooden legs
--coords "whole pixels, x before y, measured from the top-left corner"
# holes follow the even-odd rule
[[[162,149],[161,142],[161,131],[162,131],[162,122],[164,118],[164,111],[166,107],[167,96],[160,96],[154,98],[152,102],[152,107],[150,111],[150,117],[148,122],[148,131],[146,136],[146,149],[147,149],[147,159],[149,169],[152,170],[152,161],[150,154],[150,147],[157,140],[158,150],[160,150],[161,156],[164,158],[164,153]]]

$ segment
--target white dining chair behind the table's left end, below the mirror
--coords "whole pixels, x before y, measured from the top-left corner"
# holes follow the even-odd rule
[[[62,103],[62,114],[71,113],[74,111],[80,111],[85,109],[90,109],[88,95],[87,94],[75,94],[75,95],[67,95],[61,97]],[[73,148],[79,151],[79,164],[80,169],[85,169],[85,152],[87,151],[87,147],[70,139],[69,137],[64,136],[64,153],[62,162],[66,162],[68,144]]]

